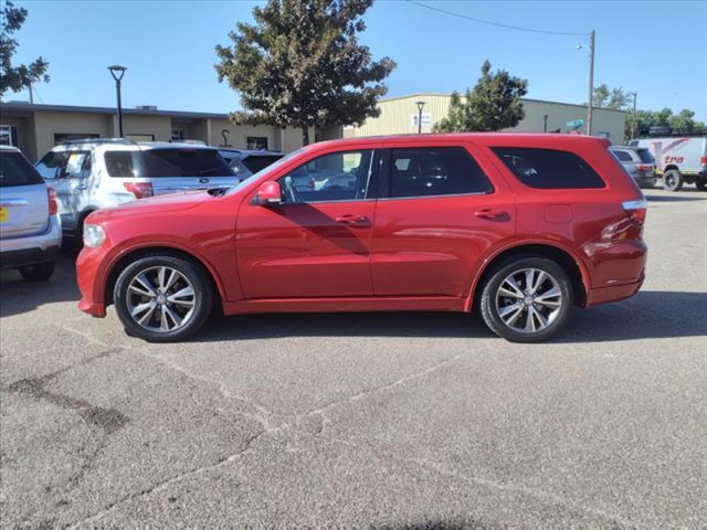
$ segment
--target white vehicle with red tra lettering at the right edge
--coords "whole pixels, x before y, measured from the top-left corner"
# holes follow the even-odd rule
[[[630,146],[650,149],[663,187],[677,192],[682,184],[707,190],[707,136],[668,136],[633,140]]]

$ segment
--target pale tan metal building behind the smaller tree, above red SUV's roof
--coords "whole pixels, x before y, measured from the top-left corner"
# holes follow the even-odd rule
[[[432,126],[447,116],[450,94],[423,93],[380,100],[380,117],[369,118],[360,127],[347,127],[344,136],[375,136],[379,134],[407,134],[418,131],[417,102],[423,101],[422,131],[431,132]],[[586,120],[587,107],[570,103],[522,99],[525,118],[513,131],[559,131],[572,129],[568,122]],[[546,118],[547,117],[547,118]],[[547,122],[546,122],[547,120]],[[626,112],[622,110],[595,109],[592,112],[592,133],[604,136],[615,145],[624,143]],[[585,131],[585,126],[580,131]]]

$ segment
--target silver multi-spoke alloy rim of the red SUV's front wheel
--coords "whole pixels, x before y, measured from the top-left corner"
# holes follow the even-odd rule
[[[196,293],[189,279],[177,269],[154,266],[133,276],[126,302],[130,316],[139,326],[169,333],[192,319]]]

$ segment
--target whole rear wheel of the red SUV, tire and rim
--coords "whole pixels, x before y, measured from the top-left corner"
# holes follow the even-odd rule
[[[498,266],[479,300],[484,322],[511,342],[542,342],[556,333],[573,304],[572,283],[551,259],[527,257]]]

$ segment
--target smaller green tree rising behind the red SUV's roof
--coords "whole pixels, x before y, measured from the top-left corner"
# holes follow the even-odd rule
[[[491,73],[491,63],[481,65],[481,77],[464,99],[452,93],[447,117],[433,127],[436,132],[500,131],[518,125],[525,110],[520,102],[527,94],[526,79],[511,77],[506,70]]]

